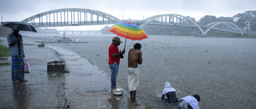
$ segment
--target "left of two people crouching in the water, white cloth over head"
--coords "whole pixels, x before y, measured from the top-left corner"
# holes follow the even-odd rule
[[[178,103],[178,99],[176,97],[176,90],[170,87],[170,83],[166,82],[165,88],[162,90],[162,100],[165,100],[167,103]]]

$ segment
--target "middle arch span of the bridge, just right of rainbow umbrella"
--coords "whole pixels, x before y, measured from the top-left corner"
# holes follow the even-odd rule
[[[148,24],[154,24],[154,21],[157,21],[158,24],[165,24],[165,25],[187,25],[187,26],[190,26],[188,24],[192,23],[193,25],[198,27],[198,29],[201,31],[201,33],[204,33],[202,28],[195,21],[193,21],[190,18],[187,18],[185,16],[182,16],[180,14],[159,14],[159,15],[155,15],[150,18],[146,18],[145,20],[143,20],[144,23],[141,25],[141,28],[143,28],[145,25],[148,25]]]

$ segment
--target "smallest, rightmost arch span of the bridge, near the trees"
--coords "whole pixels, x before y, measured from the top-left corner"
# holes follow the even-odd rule
[[[242,30],[238,27],[238,25],[235,25],[234,23],[231,23],[229,21],[212,22],[212,23],[207,24],[206,27],[209,27],[209,28],[206,29],[206,31],[203,34],[208,33],[210,31],[210,29],[219,29],[219,30],[228,31],[231,33],[243,34]]]

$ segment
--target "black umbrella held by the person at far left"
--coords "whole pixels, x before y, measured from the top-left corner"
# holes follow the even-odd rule
[[[6,21],[6,22],[2,22],[2,25],[6,26],[10,29],[15,29],[15,30],[20,30],[20,31],[37,32],[37,30],[35,30],[32,25],[25,23],[25,22]]]

